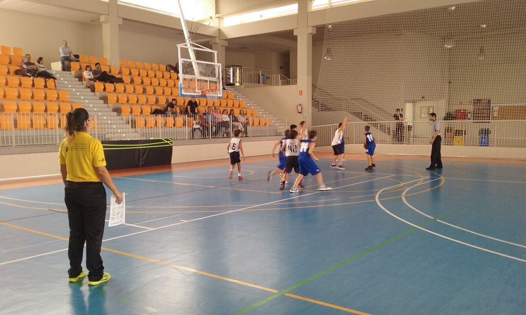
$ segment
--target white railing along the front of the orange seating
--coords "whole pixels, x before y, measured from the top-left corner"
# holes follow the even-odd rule
[[[90,134],[101,141],[150,138],[205,139],[241,136],[265,137],[284,134],[286,117],[231,115],[215,121],[207,115],[120,115],[94,117]],[[197,124],[194,124],[194,121]],[[58,145],[64,138],[65,114],[0,114],[0,147]]]

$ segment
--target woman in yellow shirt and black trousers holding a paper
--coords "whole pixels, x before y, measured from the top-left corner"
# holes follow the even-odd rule
[[[93,117],[89,117],[84,108],[77,108],[66,117],[59,163],[66,186],[64,201],[69,219],[69,281],[76,282],[86,276],[81,265],[86,242],[88,284],[95,285],[110,279],[100,257],[106,218],[106,190],[102,183],[113,191],[119,204],[123,194],[117,190],[106,169],[102,144],[89,135]]]

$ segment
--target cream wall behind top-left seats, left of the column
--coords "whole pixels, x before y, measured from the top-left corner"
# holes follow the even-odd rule
[[[64,39],[76,54],[102,56],[101,25],[0,8],[0,29],[2,45],[21,47],[35,62],[44,57],[47,68],[60,60],[58,47]]]

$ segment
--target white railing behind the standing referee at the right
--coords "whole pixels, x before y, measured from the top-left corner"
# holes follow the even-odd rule
[[[442,145],[526,148],[526,120],[441,121]],[[363,143],[363,127],[369,125],[377,144],[429,145],[429,121],[370,121],[349,123],[345,130],[347,144]],[[330,145],[337,124],[313,126],[318,131],[318,145]],[[489,133],[488,133],[489,131]]]

